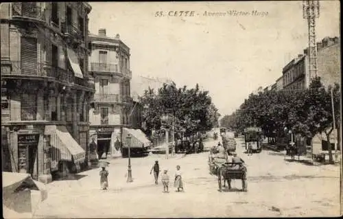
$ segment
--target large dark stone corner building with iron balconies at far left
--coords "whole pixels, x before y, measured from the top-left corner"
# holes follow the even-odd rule
[[[1,4],[3,171],[80,170],[88,160],[88,13],[78,2]]]

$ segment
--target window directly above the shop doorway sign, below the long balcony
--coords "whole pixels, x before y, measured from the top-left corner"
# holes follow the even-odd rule
[[[21,120],[36,120],[37,96],[36,94],[22,93]]]

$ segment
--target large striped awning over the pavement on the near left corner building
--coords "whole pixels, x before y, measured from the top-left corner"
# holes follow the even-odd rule
[[[52,167],[61,160],[84,162],[86,152],[73,139],[65,126],[45,126],[45,135],[50,135]]]

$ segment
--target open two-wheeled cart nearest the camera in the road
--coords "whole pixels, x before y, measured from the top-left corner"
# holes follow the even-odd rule
[[[240,179],[242,190],[247,192],[246,172],[246,167],[241,163],[223,163],[217,170],[219,191],[222,192],[222,184],[225,187],[225,182],[228,183],[228,189],[231,189],[231,180]]]

